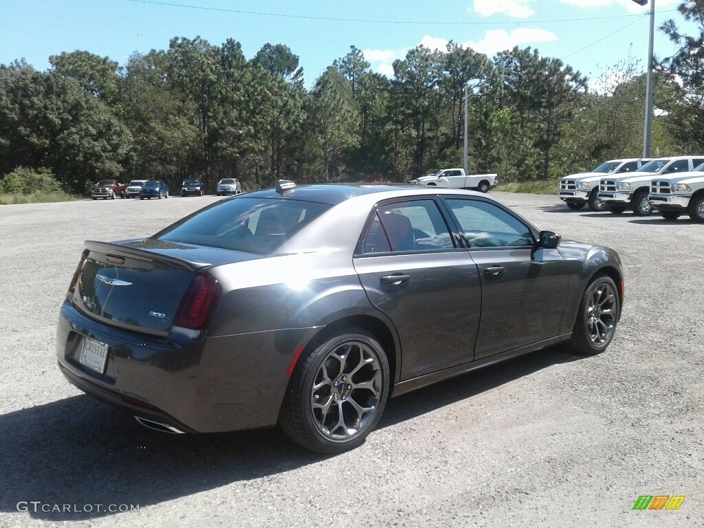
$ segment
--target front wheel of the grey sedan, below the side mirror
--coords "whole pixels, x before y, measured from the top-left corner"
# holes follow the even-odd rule
[[[569,346],[586,356],[602,353],[614,337],[621,299],[613,279],[599,274],[591,279],[579,301]]]

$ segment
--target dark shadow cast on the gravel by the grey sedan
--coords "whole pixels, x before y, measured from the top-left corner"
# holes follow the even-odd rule
[[[379,427],[578,358],[564,346],[546,348],[393,398]],[[108,511],[109,505],[141,508],[327,458],[294,444],[277,428],[154,432],[87,395],[2,415],[0,431],[0,511],[17,512],[21,503],[22,511],[42,520],[112,515],[120,510]]]

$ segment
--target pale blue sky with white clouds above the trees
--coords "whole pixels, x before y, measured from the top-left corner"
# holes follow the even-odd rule
[[[656,28],[681,21],[679,3],[656,1]],[[172,37],[217,45],[232,37],[247,58],[267,42],[286,44],[310,87],[351,45],[391,75],[393,61],[417,44],[453,40],[489,56],[532,46],[595,80],[629,56],[643,68],[646,13],[632,0],[2,0],[0,63],[24,57],[46,70],[50,55],[80,49],[122,65],[133,51],[167,49]],[[657,31],[656,56],[673,49]]]

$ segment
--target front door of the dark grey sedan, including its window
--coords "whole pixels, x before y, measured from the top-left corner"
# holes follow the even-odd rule
[[[498,204],[444,199],[482,282],[482,320],[474,358],[560,334],[567,267],[557,249],[535,249],[531,228]]]

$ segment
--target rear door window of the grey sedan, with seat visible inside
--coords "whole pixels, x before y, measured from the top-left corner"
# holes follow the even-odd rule
[[[436,203],[412,200],[379,207],[363,237],[362,251],[443,251],[454,247]]]

